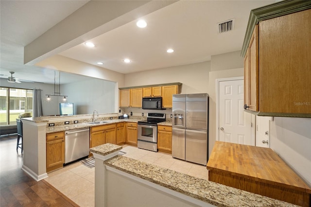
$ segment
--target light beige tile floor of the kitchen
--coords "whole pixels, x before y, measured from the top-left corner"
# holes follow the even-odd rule
[[[126,153],[123,156],[189,174],[194,177],[208,178],[206,166],[175,159],[169,154],[156,153],[128,145],[123,145],[121,151]],[[95,168],[88,168],[80,162],[75,162],[48,175],[49,177],[45,180],[79,206],[95,206]]]

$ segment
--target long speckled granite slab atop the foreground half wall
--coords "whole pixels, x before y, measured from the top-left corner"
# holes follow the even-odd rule
[[[219,207],[297,207],[121,155],[106,160],[104,164]]]

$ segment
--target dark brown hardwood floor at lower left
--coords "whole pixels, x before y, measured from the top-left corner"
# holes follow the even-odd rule
[[[16,144],[17,135],[0,137],[0,206],[78,207],[46,181],[36,182],[21,170],[23,157]]]

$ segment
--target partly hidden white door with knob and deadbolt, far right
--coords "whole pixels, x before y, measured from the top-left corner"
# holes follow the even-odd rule
[[[256,116],[256,146],[269,147],[271,117]]]

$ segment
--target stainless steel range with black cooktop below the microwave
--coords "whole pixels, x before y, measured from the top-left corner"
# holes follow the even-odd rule
[[[137,147],[157,152],[157,123],[165,121],[165,114],[148,113],[147,120],[138,121]]]

